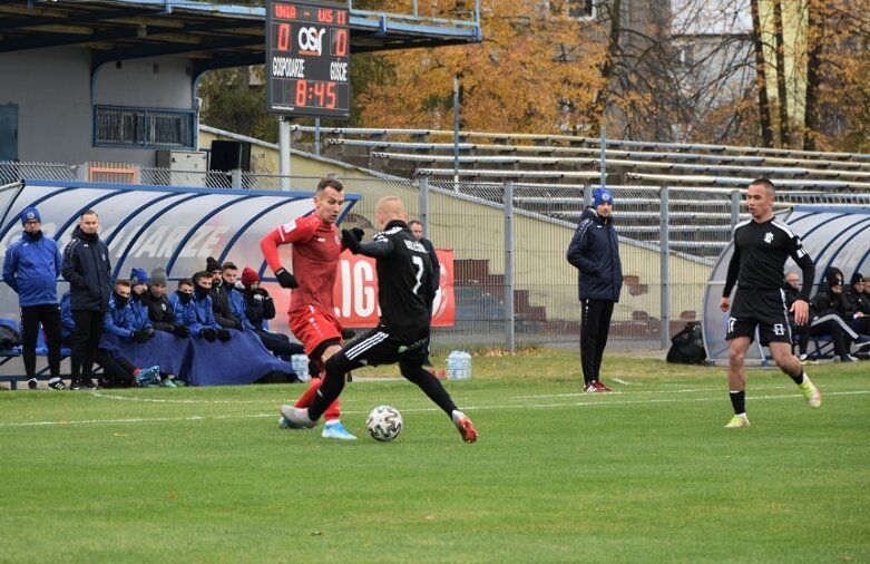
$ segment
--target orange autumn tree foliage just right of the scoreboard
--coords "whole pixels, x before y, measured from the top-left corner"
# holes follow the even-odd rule
[[[428,2],[456,18],[471,2]],[[391,2],[380,10],[389,11]],[[597,119],[596,94],[606,45],[595,22],[568,14],[567,3],[482,0],[479,45],[380,54],[390,67],[358,90],[363,126],[451,129],[453,77],[461,85],[466,130],[584,134]]]

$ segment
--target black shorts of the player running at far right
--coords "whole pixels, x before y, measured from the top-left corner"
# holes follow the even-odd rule
[[[755,339],[755,329],[762,344],[792,342],[785,292],[779,288],[740,288],[734,294],[725,339],[749,337]]]

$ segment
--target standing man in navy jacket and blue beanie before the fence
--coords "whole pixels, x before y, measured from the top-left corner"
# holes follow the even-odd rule
[[[623,264],[618,236],[613,227],[613,194],[607,188],[596,189],[593,205],[584,210],[568,245],[568,262],[579,271],[580,366],[587,393],[613,391],[599,379],[610,317],[623,289]]]

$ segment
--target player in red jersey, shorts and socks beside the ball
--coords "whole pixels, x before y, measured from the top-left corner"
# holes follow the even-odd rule
[[[317,183],[314,213],[281,225],[260,242],[270,269],[283,288],[293,289],[290,295],[290,329],[302,341],[305,353],[321,367],[341,350],[341,323],[335,318],[332,292],[338,274],[339,256],[344,246],[335,221],[344,205],[344,186],[334,178]],[[359,231],[361,239],[362,230]],[[281,263],[277,247],[293,245],[293,272]],[[317,393],[322,379],[312,375],[309,389],[296,400],[295,407],[307,407]],[[324,438],[355,440],[339,420],[341,406],[336,399],[323,415]],[[278,425],[296,428],[282,417]]]

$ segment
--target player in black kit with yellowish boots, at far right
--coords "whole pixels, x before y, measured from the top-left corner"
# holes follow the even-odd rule
[[[801,239],[773,215],[776,197],[773,183],[766,178],[753,181],[746,194],[752,221],[741,223],[734,230],[734,254],[729,263],[725,288],[720,309],[731,310],[729,317],[729,391],[734,416],[727,428],[749,427],[746,417],[746,350],[759,329],[762,344],[768,344],[773,361],[794,383],[800,386],[812,408],[822,405],[822,395],[803,372],[801,361],[792,354],[792,336],[788,312],[794,313],[794,322],[809,321],[810,289],[815,276],[815,265],[803,247]],[[791,309],[785,304],[782,274],[785,260],[791,256],[803,272],[800,296]],[[734,304],[731,290],[737,283]]]

